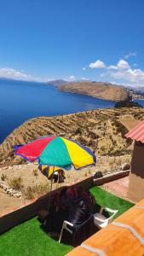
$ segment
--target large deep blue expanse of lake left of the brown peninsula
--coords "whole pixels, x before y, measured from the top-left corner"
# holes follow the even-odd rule
[[[0,143],[26,119],[112,108],[115,102],[58,91],[55,86],[0,80]]]

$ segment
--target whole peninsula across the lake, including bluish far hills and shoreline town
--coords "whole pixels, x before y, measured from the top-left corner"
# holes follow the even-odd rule
[[[106,82],[78,81],[66,82],[65,80],[50,81],[49,84],[55,85],[58,90],[71,93],[78,93],[108,101],[125,101],[131,96],[133,99],[141,99],[143,95],[135,90],[130,90],[121,85]]]

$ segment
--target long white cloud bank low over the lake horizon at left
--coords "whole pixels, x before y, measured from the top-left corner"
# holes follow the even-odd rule
[[[39,77],[34,77],[31,74],[27,74],[24,71],[15,70],[11,67],[0,67],[0,78],[37,82],[46,82],[48,80]]]

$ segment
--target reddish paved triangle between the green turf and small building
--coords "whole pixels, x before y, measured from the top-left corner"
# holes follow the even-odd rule
[[[105,183],[104,185],[102,185],[102,187],[112,192],[112,194],[116,194],[116,195],[119,195],[120,197],[123,197],[124,199],[128,199],[127,198],[128,185],[129,185],[129,177],[122,177],[110,183]]]

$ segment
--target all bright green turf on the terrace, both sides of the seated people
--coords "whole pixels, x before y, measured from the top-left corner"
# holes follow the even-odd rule
[[[98,187],[90,189],[90,192],[95,195],[98,204],[118,209],[118,215],[133,206],[131,202]],[[71,250],[72,247],[59,244],[47,236],[40,229],[37,218],[32,218],[0,236],[2,256],[63,256]]]

